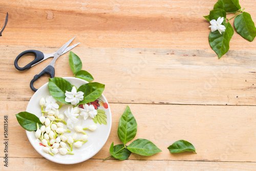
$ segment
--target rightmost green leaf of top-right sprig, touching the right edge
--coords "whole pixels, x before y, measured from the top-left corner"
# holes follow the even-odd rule
[[[251,15],[247,12],[243,12],[234,18],[234,27],[238,34],[246,40],[253,41],[256,36],[254,22],[251,19]]]

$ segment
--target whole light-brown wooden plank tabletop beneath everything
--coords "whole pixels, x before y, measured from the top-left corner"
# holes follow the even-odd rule
[[[218,59],[203,18],[216,2],[2,0],[0,25],[6,12],[9,21],[0,37],[0,170],[256,170],[256,41],[234,32],[229,52]],[[256,2],[240,4],[256,21]],[[61,165],[35,151],[15,117],[34,94],[30,80],[51,59],[23,72],[13,62],[28,49],[55,52],[74,36],[73,44],[80,44],[72,51],[82,69],[105,84],[112,130],[94,157]],[[72,76],[68,53],[58,58],[55,70],[56,77]],[[47,80],[40,78],[35,87]],[[162,152],[102,161],[111,143],[120,143],[117,127],[126,105],[138,123],[135,138],[151,140]],[[8,167],[4,116],[9,118]],[[167,147],[180,139],[193,143],[197,154],[170,154]]]

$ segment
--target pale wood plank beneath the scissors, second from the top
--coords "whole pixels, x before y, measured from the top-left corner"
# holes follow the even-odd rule
[[[28,49],[52,53],[58,48],[0,46],[2,99],[28,101],[33,95],[29,83],[51,59],[27,71],[16,70],[14,59]],[[211,50],[76,47],[73,52],[81,58],[82,69],[105,84],[103,94],[112,103],[256,104],[256,51],[230,51],[220,60]],[[68,62],[68,53],[58,58],[56,77],[73,75]],[[45,82],[47,76],[35,87]]]

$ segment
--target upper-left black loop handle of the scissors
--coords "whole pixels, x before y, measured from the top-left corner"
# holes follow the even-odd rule
[[[28,53],[33,53],[35,55],[35,59],[28,63],[28,65],[26,65],[25,67],[23,68],[20,68],[18,66],[18,60],[19,58],[21,58],[23,55],[25,54],[28,54]],[[23,70],[26,70],[26,69],[30,69],[32,67],[32,65],[34,65],[35,63],[41,61],[42,59],[44,59],[44,53],[40,52],[40,51],[37,51],[37,50],[27,50],[27,51],[24,51],[22,53],[20,53],[16,59],[14,60],[14,66],[17,70],[20,70],[20,71],[23,71]]]

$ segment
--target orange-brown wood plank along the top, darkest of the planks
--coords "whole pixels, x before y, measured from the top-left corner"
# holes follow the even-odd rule
[[[3,0],[0,22],[9,22],[0,45],[61,47],[77,36],[81,47],[208,49],[209,23],[203,18],[213,9],[210,1],[18,1]],[[60,5],[61,4],[61,5]],[[240,1],[256,20],[256,3]],[[231,15],[230,15],[231,17]],[[40,22],[38,22],[40,21]],[[230,50],[254,50],[235,33]]]

